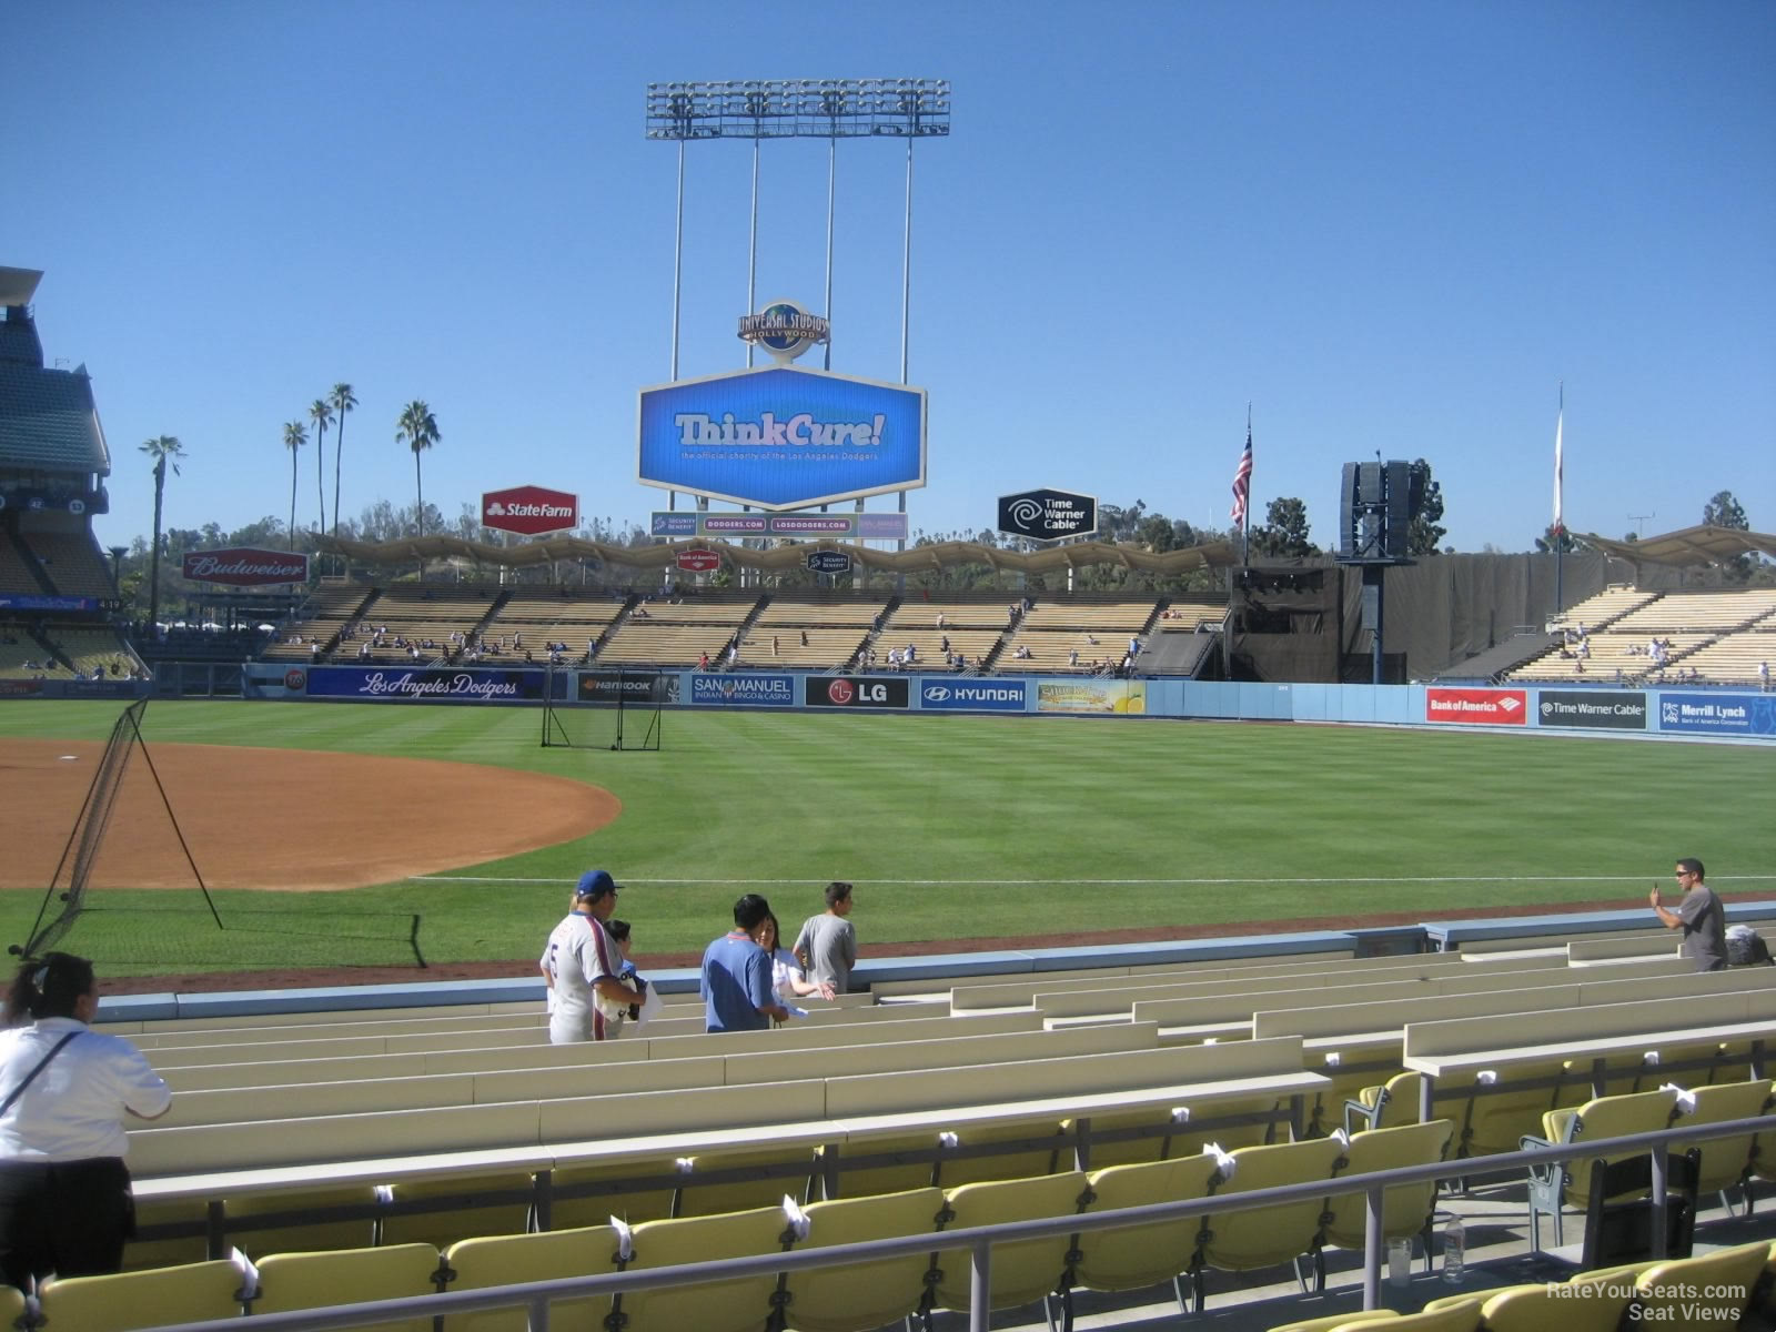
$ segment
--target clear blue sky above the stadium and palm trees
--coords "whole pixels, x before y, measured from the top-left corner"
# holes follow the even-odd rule
[[[948,78],[915,155],[915,529],[1053,485],[1202,526],[1424,456],[1449,542],[1776,529],[1776,5],[254,0],[9,5],[0,265],[112,446],[101,542],[284,517],[348,380],[345,510],[538,483],[643,520],[677,151],[646,83]],[[897,380],[904,147],[840,142],[833,369]],[[687,153],[680,375],[744,364],[751,149]],[[764,151],[760,297],[822,304],[826,144]],[[298,524],[314,522],[313,446]],[[329,442],[329,503],[332,444]],[[680,504],[684,499],[680,499]],[[892,497],[870,508],[892,508]],[[1646,515],[1646,517],[1632,517]]]

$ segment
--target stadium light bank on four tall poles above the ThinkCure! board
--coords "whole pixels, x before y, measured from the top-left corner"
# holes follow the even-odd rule
[[[826,139],[826,309],[833,318],[833,201],[840,139],[906,139],[906,234],[900,252],[900,382],[908,382],[908,305],[913,291],[913,142],[950,133],[947,78],[744,78],[648,83],[648,139],[678,144],[673,227],[671,378],[678,378],[678,288],[684,274],[684,146],[694,139],[753,140],[751,243],[746,309],[757,307],[758,147],[765,139]],[[746,362],[751,364],[751,348]],[[826,346],[826,369],[833,346]],[[902,497],[904,503],[904,497]]]

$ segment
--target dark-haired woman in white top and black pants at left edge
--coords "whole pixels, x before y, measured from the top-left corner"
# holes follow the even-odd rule
[[[172,1092],[142,1051],[87,1027],[92,963],[27,959],[0,1032],[0,1279],[117,1272],[135,1231],[123,1117],[158,1119]]]

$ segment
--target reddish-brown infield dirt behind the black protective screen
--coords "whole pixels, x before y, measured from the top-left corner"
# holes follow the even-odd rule
[[[101,753],[91,742],[0,741],[0,806],[30,829],[9,842],[0,888],[50,886]],[[435,758],[218,744],[155,744],[149,755],[210,888],[364,888],[570,842],[622,813],[602,787]],[[140,753],[92,886],[197,886]]]

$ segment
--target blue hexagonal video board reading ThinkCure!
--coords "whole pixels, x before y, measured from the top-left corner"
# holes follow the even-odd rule
[[[767,366],[641,391],[638,480],[783,510],[925,485],[925,391]]]

